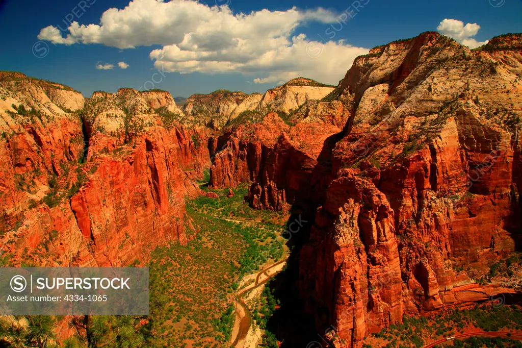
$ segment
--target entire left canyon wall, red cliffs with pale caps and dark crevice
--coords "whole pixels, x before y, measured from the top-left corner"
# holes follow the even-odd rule
[[[184,201],[210,166],[208,131],[173,120],[170,95],[95,92],[84,105],[23,75],[0,92],[0,238],[15,265],[128,265],[193,237]]]

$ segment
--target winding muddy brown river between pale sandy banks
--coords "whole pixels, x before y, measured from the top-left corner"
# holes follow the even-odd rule
[[[235,298],[236,298],[236,304],[235,304],[236,317],[235,317],[234,328],[232,330],[232,339],[231,339],[232,344],[231,344],[231,347],[238,347],[238,348],[242,347],[243,344],[244,344],[245,338],[246,338],[246,336],[248,334],[248,330],[250,330],[250,327],[252,326],[252,315],[250,313],[250,310],[248,310],[248,306],[246,305],[245,301],[242,298],[243,294],[245,294],[245,293],[247,293],[249,291],[252,291],[252,290],[258,288],[259,286],[264,285],[266,282],[268,282],[272,276],[274,276],[274,275],[276,275],[278,273],[278,272],[276,272],[276,273],[270,275],[270,274],[268,274],[268,271],[271,270],[272,268],[277,267],[281,263],[286,262],[287,259],[288,259],[288,257],[286,257],[283,260],[280,260],[280,261],[278,261],[278,262],[276,262],[274,264],[271,264],[271,265],[265,267],[264,269],[260,270],[257,273],[255,283],[244,287],[243,289],[238,291],[238,293],[235,295]],[[263,281],[259,282],[259,278],[263,274],[265,274],[266,279],[264,279]]]

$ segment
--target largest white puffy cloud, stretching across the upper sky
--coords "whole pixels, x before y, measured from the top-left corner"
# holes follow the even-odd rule
[[[338,14],[323,8],[234,14],[226,5],[210,7],[190,0],[133,0],[123,9],[106,10],[99,24],[75,21],[65,37],[49,26],[38,37],[55,44],[119,49],[161,45],[150,58],[167,72],[238,72],[256,83],[304,76],[337,84],[355,57],[369,50],[344,41],[318,42],[319,36],[308,38],[298,27],[319,22],[327,29],[339,20]]]

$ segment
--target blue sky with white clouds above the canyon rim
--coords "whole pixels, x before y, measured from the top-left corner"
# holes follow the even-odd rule
[[[89,8],[84,7],[85,11],[78,8],[79,0],[2,1],[0,69],[53,80],[79,90],[86,97],[94,90],[115,92],[122,87],[154,87],[183,97],[218,88],[251,93],[264,92],[281,81],[297,77],[293,76],[296,74],[336,84],[345,75],[353,57],[363,54],[364,50],[423,31],[435,31],[444,19],[480,26],[478,29],[470,25],[459,31],[456,22],[447,22],[446,32],[461,42],[466,39],[482,42],[502,33],[522,32],[522,0],[360,0],[359,3],[365,5],[359,11],[353,11],[351,1],[228,0],[232,13],[221,11],[219,16],[208,7],[225,4],[227,0],[216,0],[201,1],[191,9],[183,9],[186,14],[179,17],[171,15],[182,10],[177,5],[169,7],[172,12],[165,15],[161,12],[166,7],[151,6],[155,0],[134,1],[143,2],[143,9],[135,9],[134,14],[129,10],[128,16],[114,15],[117,25],[128,26],[127,36],[120,35],[119,27],[112,22],[112,27],[103,28],[107,29],[104,36],[84,30],[72,38],[74,43],[69,45],[58,43],[61,38],[53,42],[40,40],[38,36],[48,26],[66,29],[65,18],[73,18],[79,25],[99,25],[106,10],[123,9],[129,1],[85,0],[84,5],[90,4]],[[317,11],[319,5],[327,11]],[[293,6],[297,9],[291,11]],[[266,16],[256,17],[262,20],[247,18],[241,29],[228,28],[234,15],[250,15],[252,11],[262,10],[268,10]],[[339,22],[345,10],[355,16]],[[281,22],[273,15],[274,11],[285,14],[277,17]],[[76,15],[72,15],[73,12]],[[141,25],[141,19],[136,21],[136,14],[148,16],[155,28]],[[212,18],[208,22],[195,22],[207,15]],[[280,29],[292,20],[290,29]],[[164,28],[160,22],[165,22]],[[331,26],[338,31],[330,40],[328,33],[334,32]],[[276,32],[274,38],[266,39],[268,32]],[[61,32],[60,36],[66,38],[68,33]],[[184,34],[191,36],[182,43]],[[298,39],[292,39],[299,34]],[[284,43],[285,40],[288,42]],[[231,47],[238,42],[246,48]],[[129,45],[135,48],[125,48]],[[155,59],[151,59],[153,51],[157,52]],[[256,52],[251,54],[253,51]],[[118,67],[118,62],[125,62],[128,68]],[[112,64],[113,68],[97,69],[98,64]],[[158,74],[160,66],[163,73]]]

